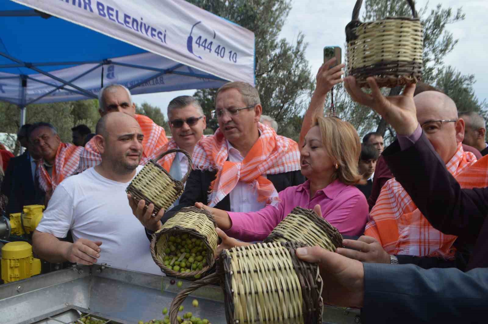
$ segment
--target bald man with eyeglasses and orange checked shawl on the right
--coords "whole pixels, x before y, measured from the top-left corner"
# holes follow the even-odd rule
[[[456,104],[438,91],[422,92],[414,101],[417,120],[447,170],[461,187],[470,187],[474,178],[470,178],[469,167],[476,157],[461,144],[465,124],[458,118]],[[369,217],[365,235],[376,239],[389,254],[454,259],[456,236],[433,228],[395,178],[385,183]]]

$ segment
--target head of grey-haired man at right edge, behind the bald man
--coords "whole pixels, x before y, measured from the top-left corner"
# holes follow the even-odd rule
[[[459,117],[464,119],[466,124],[463,144],[478,149],[482,156],[487,155],[488,143],[485,142],[485,134],[487,132],[485,119],[474,111],[460,113]]]

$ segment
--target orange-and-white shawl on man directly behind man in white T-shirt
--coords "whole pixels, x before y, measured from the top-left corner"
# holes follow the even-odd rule
[[[142,140],[142,159],[140,164],[144,165],[149,161],[149,157],[154,150],[160,148],[168,142],[164,128],[156,124],[149,117],[144,115],[135,116],[137,122],[141,126],[144,139]],[[102,162],[102,156],[95,144],[95,139],[91,139],[85,145],[85,149],[80,157],[80,165],[78,172],[82,172],[92,166],[98,165]]]

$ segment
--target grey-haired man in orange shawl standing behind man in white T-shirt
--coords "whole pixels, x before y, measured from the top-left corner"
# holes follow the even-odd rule
[[[132,96],[129,89],[122,84],[110,84],[100,90],[99,96],[99,113],[100,116],[105,116],[111,112],[122,112],[137,120],[141,126],[144,134],[144,141],[142,146],[141,164],[144,165],[149,161],[149,157],[158,148],[162,147],[168,142],[164,128],[156,124],[149,117],[136,114],[136,104],[132,101]],[[78,172],[82,172],[92,166],[98,165],[102,162],[102,156],[92,138],[85,145],[84,151],[81,153],[80,165]]]

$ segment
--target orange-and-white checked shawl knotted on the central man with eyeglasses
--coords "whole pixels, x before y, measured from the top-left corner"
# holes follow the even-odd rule
[[[243,162],[227,161],[228,142],[222,131],[200,140],[193,151],[195,169],[217,170],[210,184],[208,205],[213,207],[227,196],[237,182],[249,183],[257,190],[258,201],[277,205],[278,192],[273,183],[263,177],[300,170],[300,152],[297,142],[276,134],[274,129],[258,123],[261,136],[244,157]]]

